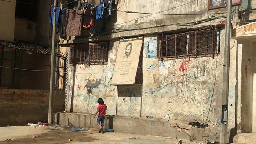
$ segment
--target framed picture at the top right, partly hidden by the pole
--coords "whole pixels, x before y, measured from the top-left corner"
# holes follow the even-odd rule
[[[242,4],[242,0],[232,0],[232,6]],[[213,10],[227,6],[227,0],[208,0],[208,9]]]

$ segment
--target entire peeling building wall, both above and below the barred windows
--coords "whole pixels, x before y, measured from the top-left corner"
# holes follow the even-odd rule
[[[174,1],[119,0],[119,10],[129,11],[163,11],[163,14],[191,14],[223,12],[226,9],[208,11],[208,1]],[[189,8],[188,8],[189,7]],[[221,15],[221,14],[220,14]],[[214,15],[219,16],[218,14]],[[147,15],[117,11],[115,29],[141,28],[156,25],[168,25],[178,22],[194,22],[206,19],[209,15]],[[213,20],[195,26],[163,26],[150,29],[112,33],[107,65],[70,65],[66,73],[66,111],[95,113],[98,97],[103,97],[108,105],[109,115],[149,116],[163,118],[166,113],[171,119],[197,119],[216,123],[221,116],[221,96],[223,79],[223,54],[225,29],[221,30],[220,54],[213,57],[197,57],[190,59],[169,59],[163,63],[169,68],[160,66],[157,58],[145,58],[145,42],[155,39],[152,33],[184,32],[183,29],[198,29],[209,25],[225,24],[225,19]],[[210,27],[208,27],[210,28]],[[119,38],[125,36],[144,35],[143,46],[143,84],[142,86],[111,86],[108,73],[113,70],[118,49]],[[98,40],[104,36],[97,37]],[[84,40],[88,42],[89,40]],[[82,39],[66,40],[63,43],[83,42]],[[93,41],[92,41],[93,42]],[[229,126],[235,125],[236,108],[236,41],[231,40],[230,50],[230,89],[229,89]],[[69,53],[69,47],[62,47]],[[67,59],[69,59],[67,57]],[[156,67],[148,70],[151,65]],[[216,77],[216,82],[215,81]],[[91,88],[90,88],[91,87]],[[213,91],[214,87],[214,91]],[[88,91],[89,90],[89,91]],[[91,93],[90,93],[91,90]],[[89,93],[88,93],[89,92]],[[213,93],[214,92],[214,93]],[[213,93],[213,94],[212,94]],[[117,97],[118,95],[118,97]],[[212,97],[213,96],[213,97]],[[232,106],[231,106],[232,105]],[[208,114],[209,113],[209,114]],[[207,122],[208,122],[207,121]]]

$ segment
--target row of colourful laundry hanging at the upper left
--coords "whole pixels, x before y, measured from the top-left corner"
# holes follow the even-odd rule
[[[64,36],[80,36],[81,29],[90,28],[91,34],[104,32],[106,29],[106,18],[111,15],[114,0],[105,0],[102,4],[83,10],[73,10],[61,7],[56,8],[56,33]],[[105,10],[104,8],[108,9]],[[53,25],[53,6],[51,5],[50,23]],[[59,32],[60,30],[60,32]]]

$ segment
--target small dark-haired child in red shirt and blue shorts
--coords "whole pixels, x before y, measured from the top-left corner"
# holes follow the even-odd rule
[[[106,115],[107,106],[104,104],[104,101],[102,98],[98,99],[98,107],[97,112],[95,113],[94,118],[96,117],[97,113],[99,112],[99,116],[97,119],[97,125],[99,126],[99,133],[103,133],[103,127],[104,127],[104,120]]]

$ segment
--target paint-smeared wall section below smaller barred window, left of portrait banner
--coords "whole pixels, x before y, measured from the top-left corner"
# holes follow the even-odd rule
[[[73,112],[95,113],[97,100],[101,97],[108,106],[106,114],[116,114],[117,86],[110,84],[113,76],[114,53],[115,51],[109,54],[107,65],[76,66]]]

